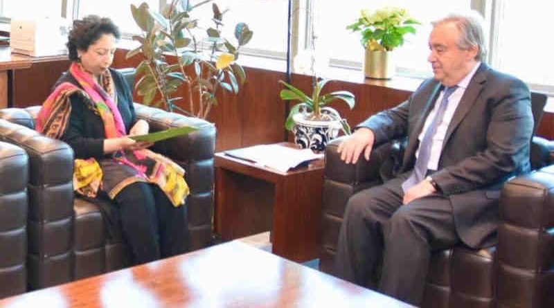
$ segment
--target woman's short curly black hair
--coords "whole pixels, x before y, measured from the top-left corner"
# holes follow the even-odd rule
[[[109,18],[88,15],[83,19],[75,19],[73,28],[69,31],[67,37],[67,49],[69,50],[69,60],[77,61],[77,50],[86,51],[91,44],[94,44],[100,36],[111,34],[119,39],[119,29]]]

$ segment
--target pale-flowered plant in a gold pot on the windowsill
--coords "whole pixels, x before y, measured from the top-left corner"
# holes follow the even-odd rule
[[[366,50],[364,73],[368,78],[390,79],[394,75],[392,51],[404,44],[404,35],[415,33],[414,25],[403,8],[384,7],[361,10],[360,17],[347,29],[361,32],[361,45]]]

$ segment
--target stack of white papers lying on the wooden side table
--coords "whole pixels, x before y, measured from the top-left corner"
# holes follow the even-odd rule
[[[254,145],[225,151],[225,154],[258,163],[279,172],[287,172],[290,168],[298,167],[302,163],[323,158],[323,153],[315,154],[310,149],[301,150],[283,145]]]

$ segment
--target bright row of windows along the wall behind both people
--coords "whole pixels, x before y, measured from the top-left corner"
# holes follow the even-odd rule
[[[148,3],[159,9],[170,0],[0,0],[1,17],[44,18],[59,17],[66,12],[68,19],[96,14],[111,17],[124,35],[137,33],[130,4]],[[190,0],[197,4],[202,0]],[[348,0],[316,1],[290,0],[293,5],[292,55],[310,44],[310,29],[314,30],[316,59],[321,66],[347,66],[361,69],[364,50],[359,33],[351,33],[346,26],[359,15],[362,8],[400,6],[409,10],[422,25],[416,35],[407,35],[406,43],[397,48],[395,57],[398,75],[426,77],[431,75],[427,55],[427,37],[430,21],[446,12],[474,8],[485,17],[490,28],[489,64],[525,80],[535,90],[554,96],[554,61],[550,54],[554,48],[548,31],[548,1],[508,0]],[[224,15],[224,36],[234,37],[233,30],[239,21],[246,22],[254,35],[243,53],[285,59],[287,54],[287,12],[289,0],[214,0]],[[508,5],[509,3],[509,5]],[[64,7],[65,6],[65,7]],[[340,6],[340,9],[337,9]],[[33,10],[29,10],[33,8]],[[311,8],[311,10],[310,10]],[[432,10],[429,8],[433,8]],[[310,12],[312,12],[310,14]],[[211,17],[211,4],[197,8],[193,15],[206,21]],[[208,17],[204,17],[208,16]],[[312,17],[310,19],[310,17]],[[313,26],[311,22],[313,20]],[[206,23],[204,26],[212,26]]]

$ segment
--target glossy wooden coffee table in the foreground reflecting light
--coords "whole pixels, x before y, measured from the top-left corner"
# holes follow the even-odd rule
[[[0,307],[411,307],[238,241],[0,300]]]

